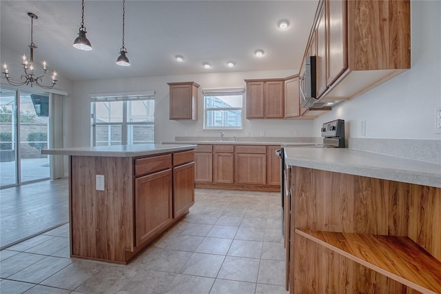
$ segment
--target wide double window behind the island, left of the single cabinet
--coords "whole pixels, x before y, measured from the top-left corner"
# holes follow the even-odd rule
[[[92,97],[93,146],[154,143],[154,92]]]

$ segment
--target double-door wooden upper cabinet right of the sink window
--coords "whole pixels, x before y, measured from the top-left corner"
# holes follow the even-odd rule
[[[245,79],[247,119],[283,119],[284,79]]]

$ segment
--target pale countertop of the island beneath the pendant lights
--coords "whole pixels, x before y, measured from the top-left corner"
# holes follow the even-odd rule
[[[176,152],[194,149],[196,145],[167,145],[167,144],[136,144],[43,149],[41,154],[49,155],[78,155],[78,156],[101,156],[101,157],[137,157],[143,155],[156,155],[161,153]]]

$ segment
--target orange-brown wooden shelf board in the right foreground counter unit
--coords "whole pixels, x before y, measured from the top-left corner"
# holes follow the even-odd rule
[[[441,293],[441,262],[409,237],[300,231],[296,233],[422,293]]]

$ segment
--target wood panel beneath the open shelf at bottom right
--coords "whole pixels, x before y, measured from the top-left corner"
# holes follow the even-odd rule
[[[298,234],[293,239],[298,266],[290,293],[407,293],[407,286],[316,242]]]

